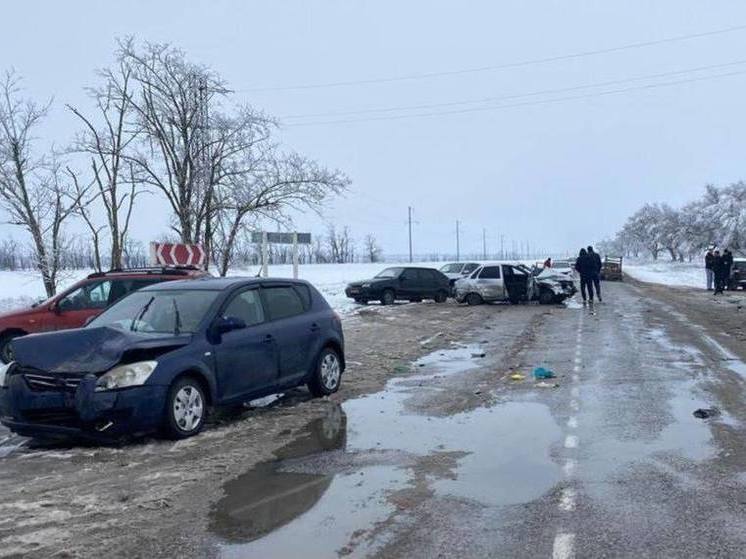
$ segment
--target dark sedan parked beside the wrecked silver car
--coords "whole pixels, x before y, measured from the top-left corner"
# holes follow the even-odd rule
[[[345,294],[356,302],[380,301],[392,305],[395,301],[422,301],[432,299],[445,303],[451,286],[448,278],[433,268],[395,266],[386,268],[376,277],[353,282],[347,286]]]

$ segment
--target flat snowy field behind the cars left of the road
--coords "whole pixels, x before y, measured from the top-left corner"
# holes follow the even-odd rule
[[[418,266],[440,268],[443,262],[417,263]],[[307,264],[300,266],[301,279],[310,281],[339,312],[346,313],[356,308],[355,303],[344,294],[345,286],[351,281],[368,279],[389,266],[397,264]],[[65,272],[60,281],[60,291],[84,278],[90,270]],[[231,276],[255,276],[258,267],[232,270]],[[292,265],[270,266],[270,276],[293,276]],[[39,274],[31,271],[0,271],[0,312],[28,307],[34,301],[44,299],[44,286]]]

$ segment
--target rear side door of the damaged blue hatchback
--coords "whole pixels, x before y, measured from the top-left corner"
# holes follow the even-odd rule
[[[264,308],[277,343],[282,385],[305,378],[311,367],[313,342],[320,335],[320,325],[307,312],[307,303],[298,291],[302,287],[277,284],[261,288]]]

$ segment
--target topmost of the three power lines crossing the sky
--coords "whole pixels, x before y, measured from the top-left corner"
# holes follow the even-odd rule
[[[609,54],[609,53],[619,52],[619,51],[629,50],[629,49],[639,49],[639,48],[645,48],[645,47],[661,45],[661,44],[666,44],[666,43],[688,41],[691,39],[700,39],[703,37],[711,37],[713,35],[721,35],[724,33],[733,33],[736,31],[742,31],[744,29],[746,29],[746,25],[736,25],[732,27],[725,27],[722,29],[704,31],[701,33],[691,33],[687,35],[675,35],[673,37],[665,37],[663,39],[656,39],[652,41],[627,43],[625,45],[619,45],[619,46],[609,47],[605,49],[585,50],[585,51],[562,54],[562,55],[557,55],[557,56],[533,58],[533,59],[521,60],[517,62],[507,62],[503,64],[495,64],[495,65],[489,65],[489,66],[477,66],[473,68],[462,68],[458,70],[447,70],[447,71],[442,71],[442,72],[425,72],[425,73],[420,73],[420,74],[408,74],[408,75],[403,75],[403,76],[387,76],[387,77],[380,77],[380,78],[369,78],[369,79],[362,79],[362,80],[344,80],[344,81],[334,81],[334,82],[315,83],[315,84],[252,87],[252,88],[240,89],[237,91],[258,92],[258,91],[290,91],[290,90],[304,90],[304,89],[320,89],[320,88],[327,88],[327,87],[369,85],[369,84],[376,84],[376,83],[391,83],[391,82],[431,79],[431,78],[444,77],[444,76],[474,74],[474,73],[479,73],[479,72],[490,72],[490,71],[495,71],[495,70],[505,70],[508,68],[520,68],[522,66],[545,64],[548,62],[558,62],[561,60],[572,60],[575,58],[584,58],[588,56],[597,56],[600,54]]]

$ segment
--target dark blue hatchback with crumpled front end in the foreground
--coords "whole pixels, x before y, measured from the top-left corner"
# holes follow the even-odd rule
[[[152,285],[88,326],[13,341],[0,421],[40,438],[198,433],[208,409],[307,384],[335,392],[339,316],[309,283],[205,278]]]

